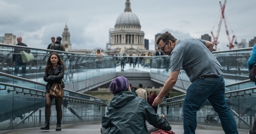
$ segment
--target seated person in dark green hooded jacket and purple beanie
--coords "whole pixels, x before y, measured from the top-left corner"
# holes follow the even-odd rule
[[[102,116],[101,133],[149,133],[145,120],[156,128],[171,130],[146,100],[135,96],[127,78],[113,79],[109,88],[114,97]]]

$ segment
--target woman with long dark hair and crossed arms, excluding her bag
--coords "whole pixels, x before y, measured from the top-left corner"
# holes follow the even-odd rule
[[[64,76],[64,70],[65,70],[64,62],[61,60],[58,53],[53,52],[49,56],[46,66],[45,66],[45,72],[43,76],[43,80],[47,82],[45,88],[45,124],[41,127],[43,130],[49,130],[50,129],[50,116],[51,116],[51,105],[52,105],[52,97],[50,97],[50,89],[53,86],[54,83],[61,83],[63,76]],[[55,99],[55,106],[56,106],[56,112],[57,112],[57,126],[56,131],[61,131],[61,119],[62,119],[62,99]]]

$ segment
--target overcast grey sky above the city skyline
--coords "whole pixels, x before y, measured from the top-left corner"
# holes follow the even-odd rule
[[[72,49],[106,48],[109,29],[124,12],[126,0],[0,0],[0,36],[22,36],[29,47],[46,48],[51,37],[62,36],[67,22]],[[155,34],[171,32],[176,38],[217,34],[219,1],[214,0],[130,0],[131,9],[141,23],[149,49],[154,49]],[[221,1],[222,4],[224,0]],[[256,1],[228,0],[225,16],[230,33],[250,41],[256,36]],[[227,50],[224,22],[219,34],[219,50]]]

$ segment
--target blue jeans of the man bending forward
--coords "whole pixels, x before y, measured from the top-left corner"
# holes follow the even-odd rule
[[[195,133],[196,111],[208,99],[218,113],[225,133],[238,133],[232,113],[225,100],[225,82],[223,76],[196,79],[189,86],[183,102],[184,133]]]

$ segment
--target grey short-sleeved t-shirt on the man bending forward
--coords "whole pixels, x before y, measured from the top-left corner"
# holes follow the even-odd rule
[[[222,66],[205,43],[206,41],[197,38],[179,39],[171,52],[171,72],[185,70],[190,82],[203,75],[221,76]]]

